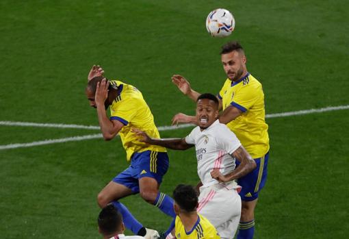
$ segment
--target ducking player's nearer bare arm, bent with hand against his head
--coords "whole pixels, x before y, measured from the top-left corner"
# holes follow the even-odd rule
[[[108,86],[109,81],[106,79],[102,79],[101,82],[97,83],[94,100],[96,101],[98,121],[103,138],[105,140],[112,140],[124,125],[120,121],[110,121],[107,117],[105,100],[108,97]]]

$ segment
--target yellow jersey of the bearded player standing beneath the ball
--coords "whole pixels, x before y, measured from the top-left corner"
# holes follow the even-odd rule
[[[242,110],[242,114],[227,126],[239,138],[252,158],[261,158],[269,151],[268,125],[261,83],[247,73],[238,81],[227,79],[218,94],[223,110],[229,105]]]

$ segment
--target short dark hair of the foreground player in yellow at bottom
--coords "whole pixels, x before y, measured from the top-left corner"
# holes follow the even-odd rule
[[[198,194],[190,185],[179,184],[173,191],[173,199],[186,212],[193,212],[198,206]]]

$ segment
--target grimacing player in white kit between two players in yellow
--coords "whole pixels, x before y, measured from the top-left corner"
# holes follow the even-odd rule
[[[178,150],[195,146],[202,183],[197,210],[216,227],[221,238],[233,238],[241,215],[240,186],[235,179],[253,171],[256,163],[227,125],[218,121],[218,105],[214,95],[198,97],[198,127],[185,138],[155,139],[138,129],[133,131],[148,144]],[[237,168],[235,159],[241,162]]]

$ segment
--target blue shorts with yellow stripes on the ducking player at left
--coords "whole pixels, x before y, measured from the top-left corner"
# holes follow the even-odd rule
[[[133,153],[131,164],[125,171],[114,177],[113,181],[130,188],[133,193],[140,192],[138,180],[142,177],[153,177],[161,184],[162,177],[168,170],[169,162],[167,153],[144,151]]]

